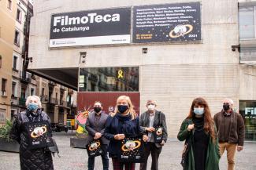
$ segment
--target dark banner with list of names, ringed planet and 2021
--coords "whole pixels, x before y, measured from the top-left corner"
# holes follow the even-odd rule
[[[200,2],[133,7],[135,43],[201,40]]]

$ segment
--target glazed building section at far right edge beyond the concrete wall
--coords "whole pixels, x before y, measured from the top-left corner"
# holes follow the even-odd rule
[[[239,113],[246,139],[256,140],[256,1],[239,1]]]

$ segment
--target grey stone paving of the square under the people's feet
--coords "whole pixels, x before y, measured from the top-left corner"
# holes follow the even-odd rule
[[[65,133],[54,135],[58,143],[60,156],[54,157],[55,170],[85,170],[87,169],[87,151],[85,149],[70,147],[72,136]],[[180,166],[180,155],[183,143],[176,139],[169,139],[159,157],[159,170],[182,170]],[[256,143],[245,143],[244,150],[236,154],[236,170],[256,170]],[[149,158],[147,169],[150,169]],[[20,169],[19,154],[0,151],[0,170]],[[136,170],[139,164],[136,164]],[[227,169],[226,152],[220,161],[220,169]],[[102,170],[101,157],[95,158],[95,170]],[[109,159],[109,170],[113,170],[112,161]],[[213,169],[214,170],[214,169]]]

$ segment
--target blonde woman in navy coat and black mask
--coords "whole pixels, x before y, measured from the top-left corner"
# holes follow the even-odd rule
[[[123,163],[118,161],[117,154],[120,150],[118,141],[125,137],[143,136],[143,131],[139,127],[139,117],[133,109],[131,99],[128,96],[119,96],[114,113],[110,114],[106,120],[104,136],[109,139],[109,157],[112,157],[113,169],[134,170],[135,163]],[[147,141],[147,136],[143,136]]]

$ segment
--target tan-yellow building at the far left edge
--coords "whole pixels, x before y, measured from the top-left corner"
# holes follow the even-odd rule
[[[0,1],[0,125],[11,115],[13,40],[17,3]]]

